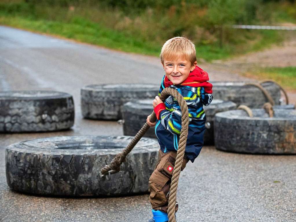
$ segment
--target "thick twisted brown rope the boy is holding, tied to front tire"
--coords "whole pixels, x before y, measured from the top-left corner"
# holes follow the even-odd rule
[[[188,116],[187,103],[184,100],[183,96],[176,89],[172,89],[172,88],[163,89],[159,98],[164,102],[165,99],[170,95],[173,96],[178,101],[181,107],[181,112],[182,112],[180,140],[178,145],[175,167],[173,170],[173,176],[171,179],[171,186],[170,186],[169,199],[168,199],[169,222],[176,222],[176,218],[175,218],[176,194],[177,194],[179,176],[181,173],[181,166],[182,166],[183,158],[185,154],[185,147],[186,147],[186,141],[188,136],[189,116]],[[155,121],[156,121],[156,115],[155,115],[155,112],[153,111],[150,116],[150,122],[153,123]],[[109,165],[106,165],[101,169],[100,171],[101,177],[103,177],[108,173],[113,174],[120,171],[121,163],[123,163],[126,160],[126,156],[128,155],[128,153],[131,152],[133,147],[137,144],[137,142],[141,139],[141,137],[146,133],[146,131],[149,128],[150,126],[147,123],[145,123],[142,126],[142,128],[139,130],[139,132],[136,134],[136,136],[128,144],[128,146],[125,149],[123,149],[121,153],[117,154]]]

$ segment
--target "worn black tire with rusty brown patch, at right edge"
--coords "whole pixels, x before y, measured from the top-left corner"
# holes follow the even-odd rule
[[[296,154],[296,110],[274,109],[269,118],[263,109],[215,115],[215,146],[219,150],[250,154]]]

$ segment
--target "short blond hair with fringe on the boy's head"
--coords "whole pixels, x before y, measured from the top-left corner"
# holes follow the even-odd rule
[[[191,65],[196,61],[195,46],[188,38],[174,37],[170,38],[165,44],[163,44],[160,53],[160,61],[162,64],[164,58],[170,60],[177,57],[189,60]]]

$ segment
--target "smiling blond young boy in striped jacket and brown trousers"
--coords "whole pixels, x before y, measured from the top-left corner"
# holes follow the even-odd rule
[[[171,38],[165,42],[160,53],[165,75],[161,81],[159,95],[164,88],[178,90],[187,102],[189,129],[185,155],[181,170],[190,160],[192,163],[203,146],[205,112],[203,105],[212,102],[212,84],[207,72],[197,66],[194,44],[184,37]],[[181,131],[181,109],[178,102],[169,96],[163,103],[158,96],[153,100],[157,121],[147,123],[155,126],[155,135],[160,144],[158,163],[149,178],[149,200],[153,218],[149,222],[168,221],[168,193],[176,161]],[[178,203],[176,203],[176,211]]]

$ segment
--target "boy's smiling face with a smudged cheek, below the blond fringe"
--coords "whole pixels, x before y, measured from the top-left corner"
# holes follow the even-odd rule
[[[163,68],[165,75],[175,85],[179,85],[188,77],[189,73],[195,69],[197,62],[193,65],[191,62],[184,58],[175,58],[166,60],[163,59]]]

